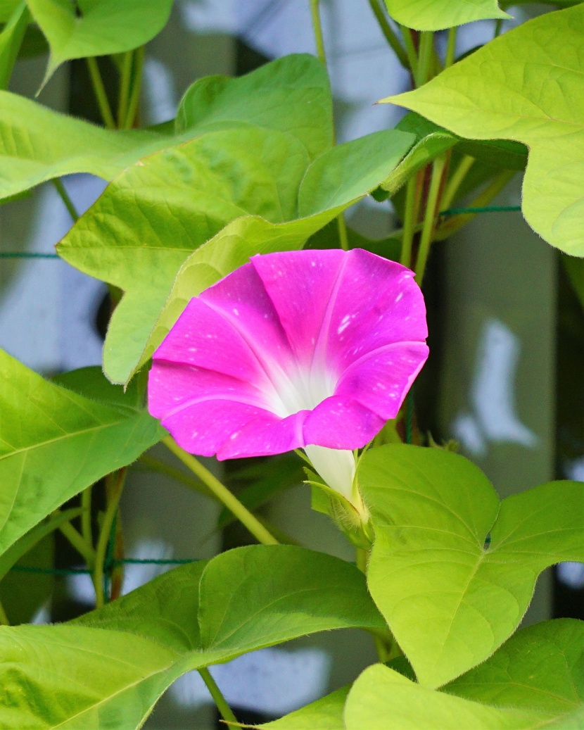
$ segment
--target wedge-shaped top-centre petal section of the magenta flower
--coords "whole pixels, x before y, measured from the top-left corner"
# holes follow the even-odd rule
[[[312,359],[346,257],[344,251],[315,250],[272,253],[251,259],[301,364]]]

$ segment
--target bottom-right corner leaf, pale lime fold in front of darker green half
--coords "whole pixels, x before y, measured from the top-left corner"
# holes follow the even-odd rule
[[[345,726],[347,730],[577,730],[584,722],[583,660],[584,622],[568,618],[518,631],[484,664],[442,691],[422,687],[377,664],[353,685]]]

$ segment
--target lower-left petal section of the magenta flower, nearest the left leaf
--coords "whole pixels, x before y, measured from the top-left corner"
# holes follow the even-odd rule
[[[278,420],[273,413],[247,403],[207,400],[171,413],[161,423],[185,451],[213,456],[247,423],[272,424]]]

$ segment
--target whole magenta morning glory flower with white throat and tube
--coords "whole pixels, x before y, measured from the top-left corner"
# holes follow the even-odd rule
[[[150,413],[218,459],[303,448],[353,501],[353,450],[428,356],[413,274],[364,250],[256,255],[193,297],[153,356]]]

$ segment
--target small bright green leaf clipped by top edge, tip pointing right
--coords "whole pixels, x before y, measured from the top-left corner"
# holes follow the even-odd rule
[[[497,0],[385,0],[389,14],[417,31],[442,31],[472,20],[510,18]]]

